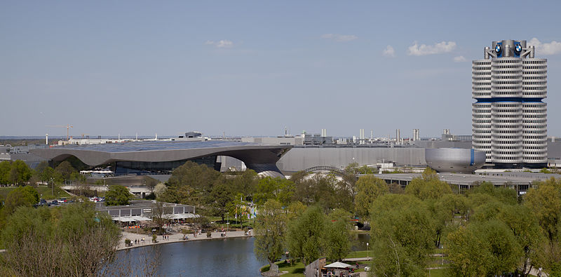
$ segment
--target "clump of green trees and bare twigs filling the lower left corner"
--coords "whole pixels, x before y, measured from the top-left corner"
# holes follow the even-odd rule
[[[104,276],[112,272],[121,231],[93,203],[20,207],[0,234],[4,269],[14,276]],[[6,272],[4,272],[6,273]]]

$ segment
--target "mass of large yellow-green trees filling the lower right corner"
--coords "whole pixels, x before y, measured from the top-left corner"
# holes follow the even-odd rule
[[[377,276],[418,276],[444,245],[450,275],[561,274],[561,180],[537,182],[523,197],[482,183],[453,194],[426,170],[405,194],[377,196],[370,206],[372,268]]]

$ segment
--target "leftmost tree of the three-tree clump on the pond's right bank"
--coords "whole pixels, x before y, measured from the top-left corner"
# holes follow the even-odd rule
[[[286,215],[281,204],[270,199],[263,205],[255,222],[255,255],[273,264],[283,255]]]

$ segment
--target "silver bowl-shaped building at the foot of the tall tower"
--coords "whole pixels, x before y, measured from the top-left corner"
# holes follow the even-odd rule
[[[438,172],[473,173],[485,164],[485,152],[459,148],[427,148],[426,164]]]

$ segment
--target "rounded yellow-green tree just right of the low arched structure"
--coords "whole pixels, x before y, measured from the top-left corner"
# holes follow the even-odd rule
[[[388,186],[384,180],[366,175],[358,178],[355,184],[355,212],[360,217],[370,217],[370,207],[376,198],[388,193]]]

